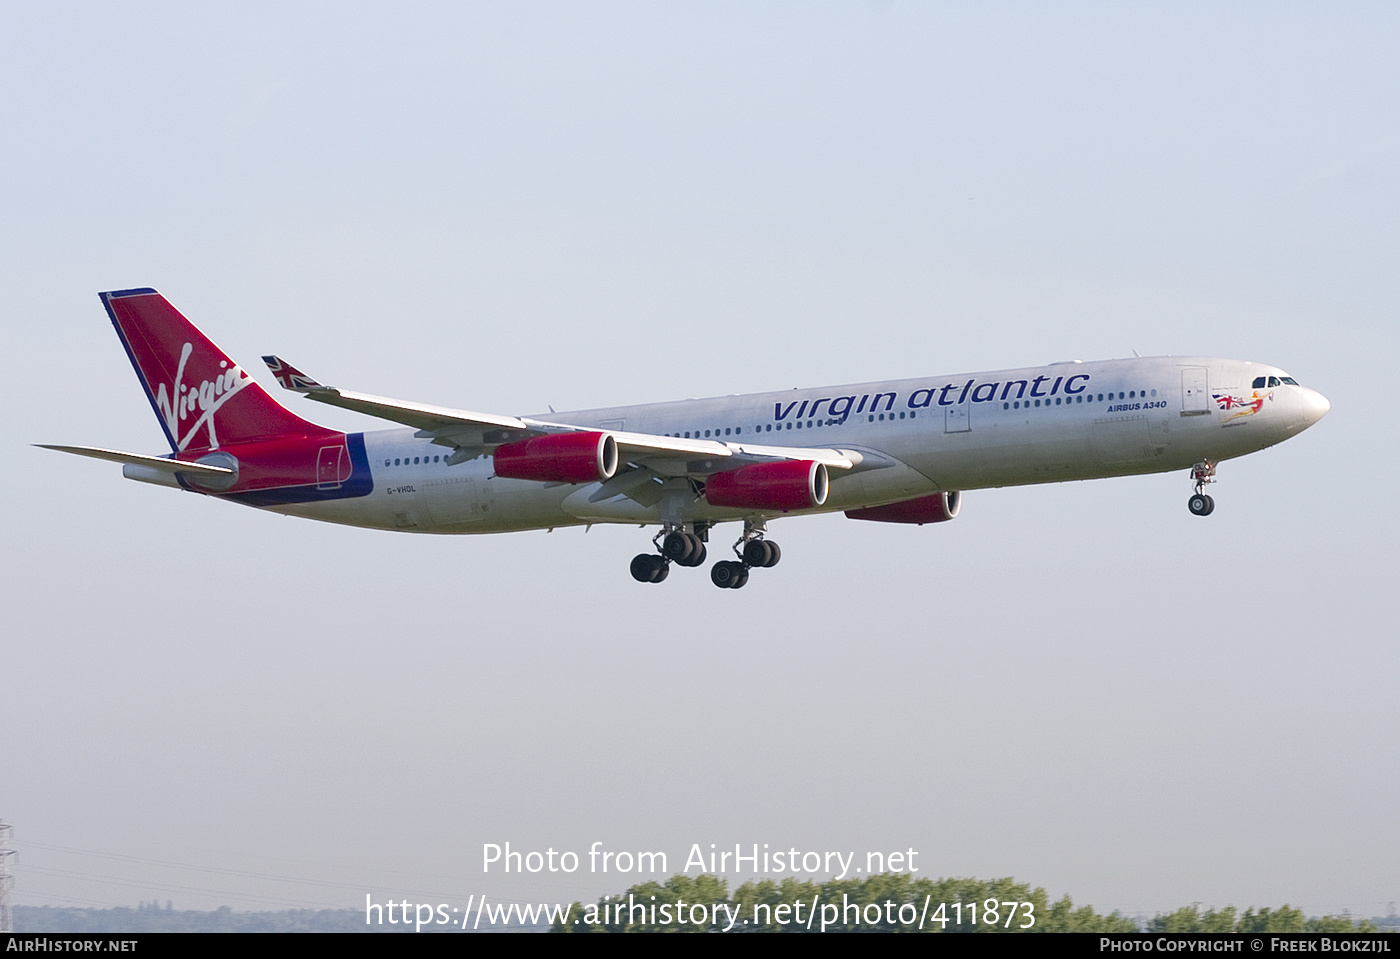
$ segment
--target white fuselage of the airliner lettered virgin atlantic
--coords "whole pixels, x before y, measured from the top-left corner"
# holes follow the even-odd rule
[[[1278,385],[1254,388],[1260,378]],[[948,490],[1158,473],[1242,456],[1327,412],[1319,393],[1284,378],[1257,363],[1147,357],[550,413],[549,420],[734,445],[855,451],[857,468],[832,470],[826,503],[808,511],[830,512]],[[664,519],[661,503],[599,498],[598,483],[501,479],[490,455],[449,466],[449,449],[412,428],[365,433],[364,444],[374,479],[368,496],[273,508],[438,533]],[[666,518],[686,522],[755,515],[711,507],[704,497],[687,496],[683,507],[671,503],[683,514]]]

